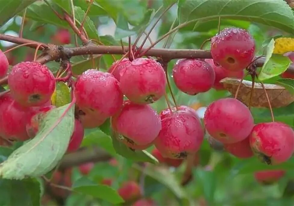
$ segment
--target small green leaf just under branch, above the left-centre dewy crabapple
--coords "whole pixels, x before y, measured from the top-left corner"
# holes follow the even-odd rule
[[[86,70],[88,70],[90,68],[99,67],[100,58],[101,58],[101,55],[93,55],[94,67],[93,67],[93,61],[92,61],[91,57],[89,57],[87,59],[78,58],[79,60],[75,61],[72,64],[73,74],[80,75],[84,71],[86,71]]]

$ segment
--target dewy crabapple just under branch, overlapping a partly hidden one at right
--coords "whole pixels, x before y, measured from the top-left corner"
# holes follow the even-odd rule
[[[213,68],[197,59],[180,59],[173,69],[174,82],[182,92],[196,95],[211,89],[215,74]]]

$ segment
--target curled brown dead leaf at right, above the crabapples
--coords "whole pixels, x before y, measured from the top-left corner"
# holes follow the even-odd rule
[[[235,96],[240,79],[225,78],[220,81],[224,85],[224,88]],[[273,108],[284,107],[294,101],[294,95],[286,90],[285,87],[275,84],[264,84],[267,94],[269,96],[271,106]],[[249,105],[250,93],[252,82],[243,80],[237,99],[243,102],[245,105]],[[251,101],[252,107],[266,107],[268,108],[267,99],[260,83],[254,84],[254,93]]]

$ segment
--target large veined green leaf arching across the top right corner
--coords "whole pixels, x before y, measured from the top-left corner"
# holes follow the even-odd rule
[[[283,0],[194,0],[178,2],[180,23],[213,19],[236,19],[258,22],[294,33],[294,15]]]

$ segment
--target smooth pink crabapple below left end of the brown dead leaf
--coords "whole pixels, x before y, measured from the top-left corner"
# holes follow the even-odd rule
[[[249,136],[254,120],[249,109],[237,99],[223,98],[212,102],[204,114],[207,132],[216,140],[230,144]]]

